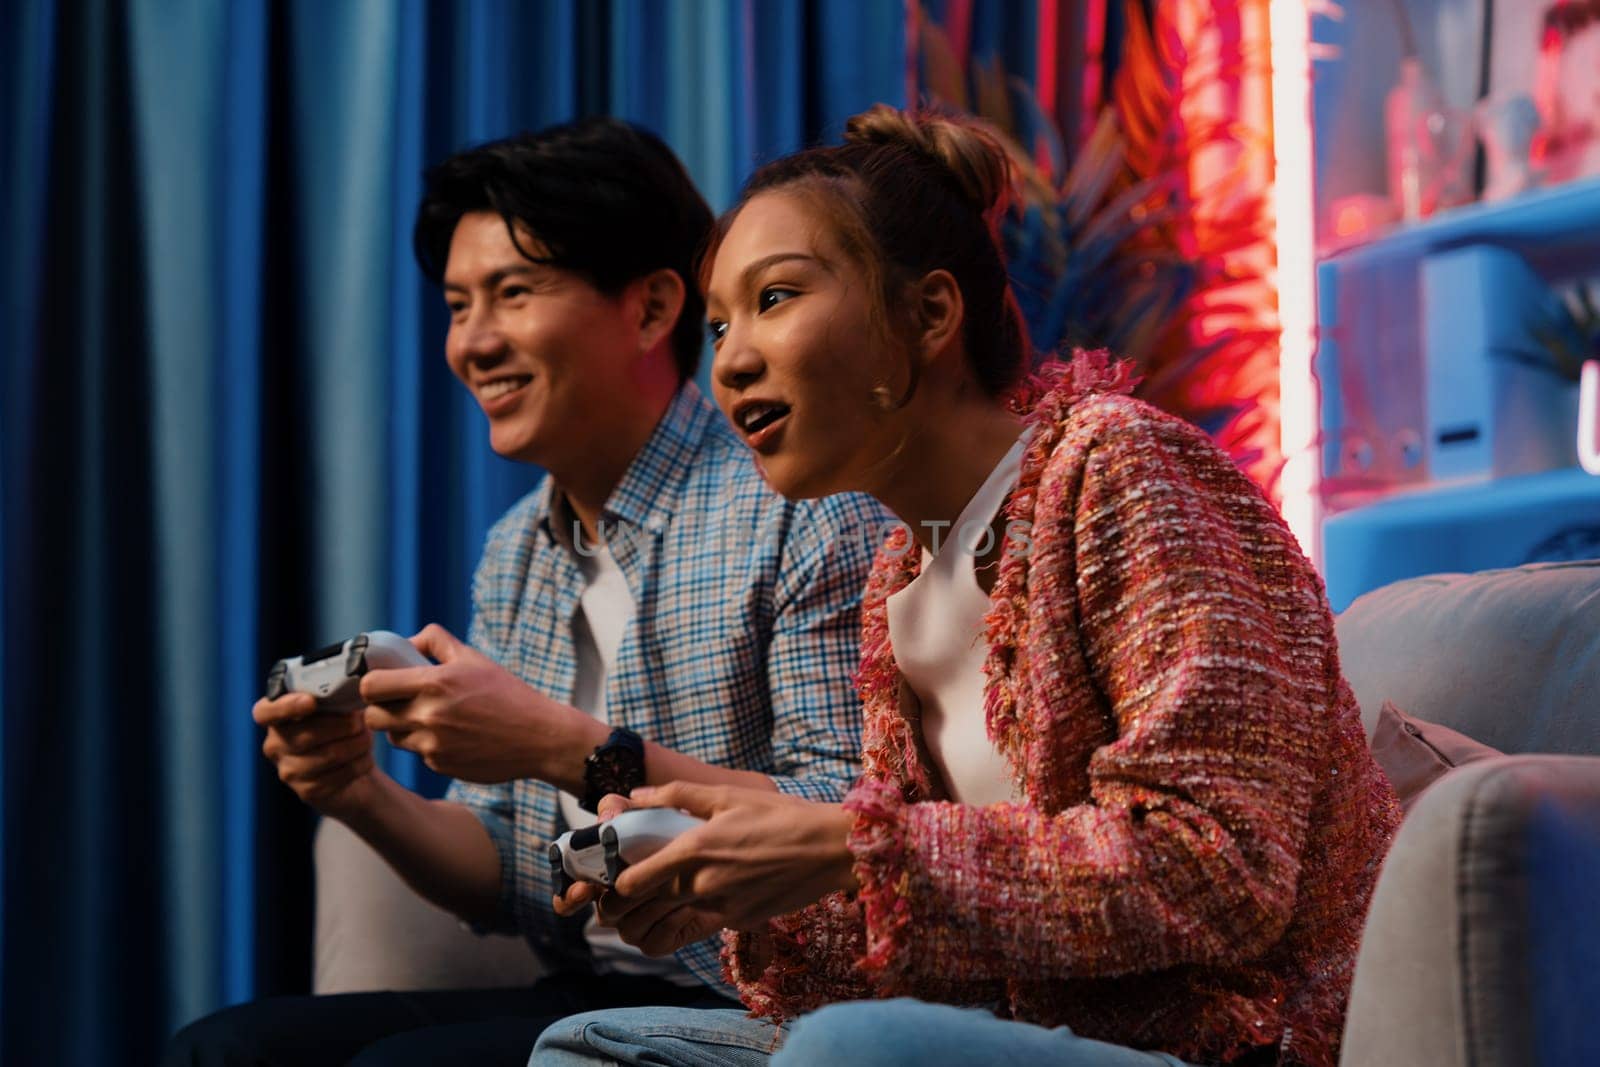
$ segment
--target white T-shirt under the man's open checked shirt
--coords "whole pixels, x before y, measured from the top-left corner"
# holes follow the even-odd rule
[[[573,683],[573,705],[602,723],[606,718],[605,683],[616,665],[616,651],[622,646],[622,633],[638,613],[634,593],[627,587],[622,568],[616,565],[611,550],[603,544],[574,549],[578,566],[584,573],[584,592],[573,616],[573,645],[578,649],[578,677]],[[566,825],[581,830],[598,819],[578,806],[578,797],[562,792],[562,817]],[[584,939],[595,958],[595,969],[624,974],[654,974],[677,985],[701,982],[683,969],[672,957],[653,958],[622,941],[614,926],[602,926],[594,915],[584,925]]]

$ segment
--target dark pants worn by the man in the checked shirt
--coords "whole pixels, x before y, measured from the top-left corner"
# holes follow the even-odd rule
[[[523,1067],[557,1019],[600,1008],[736,1008],[658,977],[558,974],[522,989],[274,997],[224,1008],[179,1030],[163,1067]]]

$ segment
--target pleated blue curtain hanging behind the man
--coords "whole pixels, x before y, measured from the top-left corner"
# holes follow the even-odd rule
[[[462,632],[494,458],[411,262],[422,168],[581,114],[714,208],[902,102],[899,0],[0,5],[0,1061],[141,1062],[309,984],[267,664]],[[440,782],[405,753],[392,773]]]

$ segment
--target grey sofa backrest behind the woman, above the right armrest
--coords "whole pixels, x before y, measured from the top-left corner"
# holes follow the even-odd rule
[[[1501,752],[1600,755],[1600,560],[1394,582],[1338,632],[1368,736],[1394,701]]]

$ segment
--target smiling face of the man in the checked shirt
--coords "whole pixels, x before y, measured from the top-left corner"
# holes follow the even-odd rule
[[[518,234],[530,254],[546,250]],[[584,278],[530,262],[493,211],[461,218],[445,262],[445,358],[490,421],[507,459],[562,467],[606,427],[608,405],[632,387],[638,331],[622,302]]]

